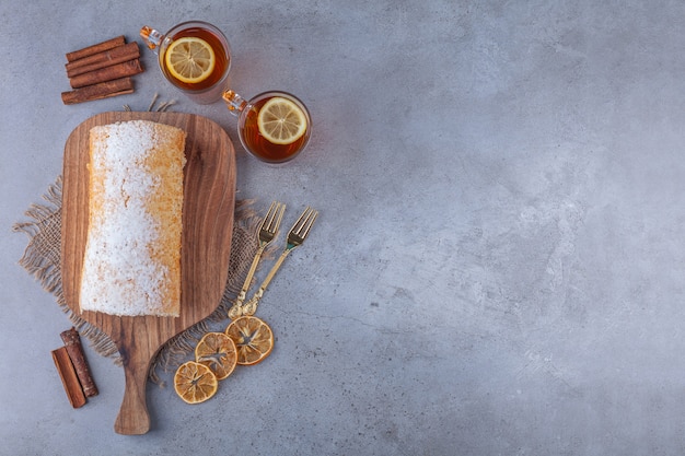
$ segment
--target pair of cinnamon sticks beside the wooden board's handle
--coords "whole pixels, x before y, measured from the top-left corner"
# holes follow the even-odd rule
[[[83,354],[81,338],[76,328],[60,334],[63,347],[53,350],[53,360],[65,386],[71,407],[85,405],[86,397],[97,395],[97,387]]]

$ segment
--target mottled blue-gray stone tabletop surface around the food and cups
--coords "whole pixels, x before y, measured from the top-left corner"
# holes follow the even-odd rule
[[[685,4],[219,0],[0,3],[0,454],[678,455],[685,452]],[[65,52],[206,20],[232,84],[298,94],[314,136],[274,168],[219,103],[143,56],[126,95],[65,106]],[[207,116],[239,197],[321,210],[260,316],[264,363],[187,406],[148,385],[152,430],[113,430],[123,370],[69,406],[50,358],[70,324],[12,232],[76,126]],[[165,381],[171,379],[171,373]]]

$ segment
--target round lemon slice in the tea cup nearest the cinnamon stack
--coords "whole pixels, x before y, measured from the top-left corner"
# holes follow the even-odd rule
[[[209,43],[195,36],[174,40],[164,54],[169,72],[188,84],[206,80],[213,71],[216,60],[214,50]]]

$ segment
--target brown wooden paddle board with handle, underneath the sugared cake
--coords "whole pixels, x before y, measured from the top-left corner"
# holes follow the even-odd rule
[[[178,317],[118,317],[81,312],[79,289],[88,234],[89,136],[96,125],[154,120],[183,128],[186,138],[182,239],[182,296]],[[144,434],[150,429],[146,384],[150,362],[173,336],[211,314],[227,282],[233,210],[235,152],[216,122],[181,113],[103,113],[79,125],[65,145],[61,276],[67,305],[116,343],[124,360],[126,388],[115,431]]]

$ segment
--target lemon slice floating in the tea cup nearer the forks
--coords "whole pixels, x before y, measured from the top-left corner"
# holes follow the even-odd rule
[[[274,144],[291,144],[306,131],[306,116],[294,102],[275,96],[259,109],[257,128]]]

